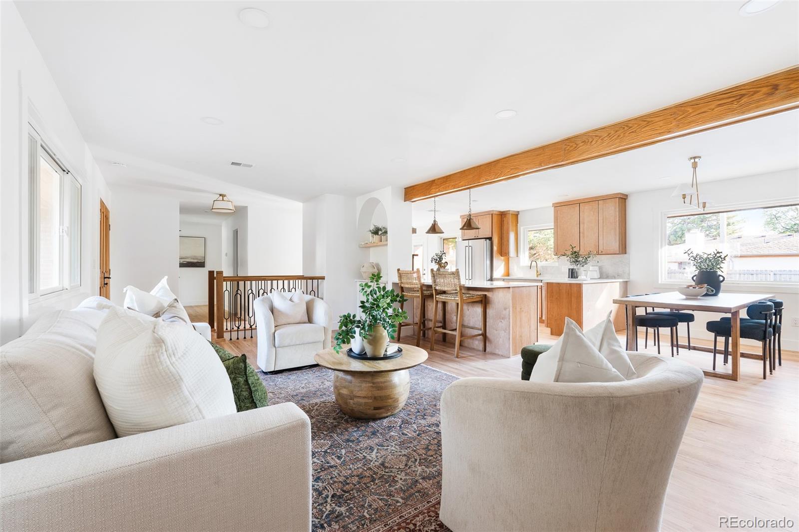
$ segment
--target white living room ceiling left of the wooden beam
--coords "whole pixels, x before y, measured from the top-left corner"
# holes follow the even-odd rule
[[[741,3],[17,6],[94,153],[304,200],[410,185],[799,63],[799,3],[752,17]],[[238,21],[249,6],[267,28]]]

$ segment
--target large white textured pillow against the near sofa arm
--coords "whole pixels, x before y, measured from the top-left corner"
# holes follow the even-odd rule
[[[217,353],[184,324],[112,308],[97,332],[94,379],[117,435],[235,414]]]

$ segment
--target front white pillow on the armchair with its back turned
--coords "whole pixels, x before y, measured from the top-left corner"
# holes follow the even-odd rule
[[[535,361],[535,383],[614,383],[624,377],[597,351],[574,321],[566,318],[563,334]]]

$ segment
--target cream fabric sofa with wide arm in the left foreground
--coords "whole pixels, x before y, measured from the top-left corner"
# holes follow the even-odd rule
[[[310,530],[308,416],[283,403],[116,438],[93,380],[101,318],[42,316],[0,347],[0,530]]]

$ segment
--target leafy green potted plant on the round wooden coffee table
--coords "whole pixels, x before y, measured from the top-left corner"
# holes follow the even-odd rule
[[[366,283],[360,284],[361,315],[342,314],[339,316],[339,330],[336,332],[336,345],[333,349],[341,351],[344,343],[350,343],[360,336],[364,339],[367,356],[383,356],[388,339],[394,339],[397,324],[407,320],[407,312],[394,305],[407,301],[405,296],[380,284],[380,273],[372,273]]]

